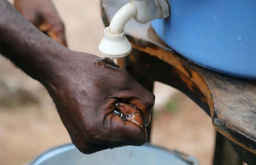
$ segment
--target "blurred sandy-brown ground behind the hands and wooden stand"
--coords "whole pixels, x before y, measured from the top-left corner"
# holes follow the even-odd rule
[[[100,0],[53,0],[69,48],[99,55],[104,25]],[[92,28],[93,27],[93,28]],[[90,29],[90,31],[86,31]],[[152,143],[212,164],[215,131],[210,117],[187,96],[155,82]],[[28,164],[50,147],[71,142],[45,88],[0,57],[0,164]]]

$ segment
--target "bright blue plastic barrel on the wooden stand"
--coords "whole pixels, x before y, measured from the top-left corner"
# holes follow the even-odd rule
[[[208,69],[256,79],[255,0],[168,0],[171,18],[152,21],[176,52]]]

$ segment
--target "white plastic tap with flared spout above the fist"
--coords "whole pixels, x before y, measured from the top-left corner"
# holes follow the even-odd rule
[[[139,23],[148,23],[154,19],[170,16],[170,7],[166,0],[131,0],[114,15],[110,26],[104,30],[104,38],[98,45],[102,56],[121,58],[131,52],[131,44],[125,36],[125,25],[134,18]]]

